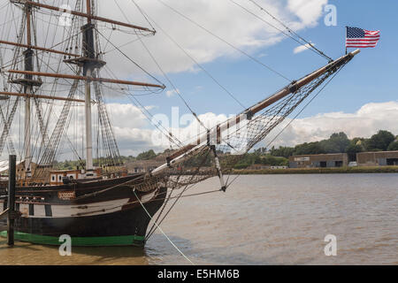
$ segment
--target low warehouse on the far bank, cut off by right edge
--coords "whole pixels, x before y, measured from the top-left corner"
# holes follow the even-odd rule
[[[358,166],[398,165],[398,150],[359,152],[356,154]]]

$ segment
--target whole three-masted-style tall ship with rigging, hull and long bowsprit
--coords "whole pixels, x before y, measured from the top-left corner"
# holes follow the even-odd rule
[[[143,246],[193,185],[216,177],[218,191],[226,191],[233,165],[359,52],[329,58],[327,65],[218,125],[204,126],[193,112],[203,132],[188,141],[160,128],[171,149],[156,157],[160,164],[149,172],[128,172],[104,97],[121,89],[163,92],[165,85],[118,78],[108,70],[103,42],[114,46],[126,64],[134,61],[117,42],[103,39],[100,27],[107,24],[126,36],[155,35],[156,30],[100,17],[97,2],[76,0],[71,9],[50,1],[2,2],[14,25],[0,38],[0,153],[18,153],[16,240],[59,245],[59,237],[67,234],[73,246]],[[52,18],[64,14],[68,25],[57,29]],[[19,133],[21,150],[11,132]],[[65,148],[79,165],[59,170],[57,158]],[[3,213],[8,163],[0,167]]]

